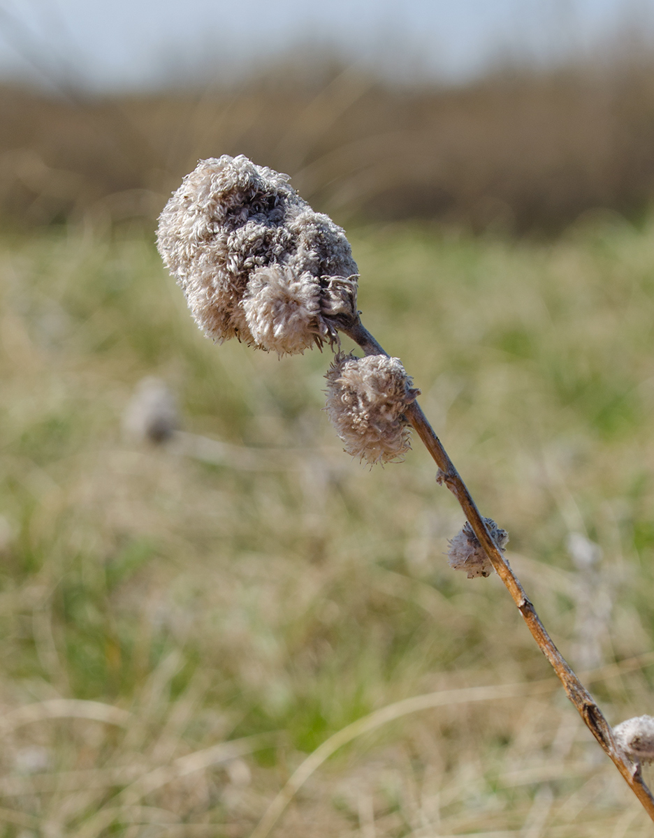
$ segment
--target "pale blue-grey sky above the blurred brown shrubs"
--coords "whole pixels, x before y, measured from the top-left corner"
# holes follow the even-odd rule
[[[0,0],[0,76],[138,88],[324,44],[390,74],[462,80],[506,52],[599,50],[615,28],[652,31],[652,19],[654,0]]]

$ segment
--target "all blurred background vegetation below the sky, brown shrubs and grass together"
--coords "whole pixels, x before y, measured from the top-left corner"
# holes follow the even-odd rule
[[[350,722],[485,685],[513,697],[356,738],[275,834],[650,835],[496,577],[449,570],[463,520],[427,454],[350,461],[329,353],[211,345],[153,227],[221,153],[346,224],[366,326],[555,641],[611,723],[652,712],[651,70],[620,48],[447,88],[328,59],[0,88],[3,838],[247,838]],[[179,403],[164,446],[122,430],[152,375]]]

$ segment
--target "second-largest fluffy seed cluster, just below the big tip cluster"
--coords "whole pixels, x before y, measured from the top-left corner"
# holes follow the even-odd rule
[[[327,415],[345,451],[367,463],[390,463],[409,449],[404,412],[420,395],[398,358],[338,354],[327,379]]]

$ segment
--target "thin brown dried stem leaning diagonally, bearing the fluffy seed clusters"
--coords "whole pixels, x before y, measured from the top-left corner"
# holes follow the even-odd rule
[[[370,332],[364,328],[361,321],[357,321],[350,328],[342,328],[341,331],[354,340],[356,344],[359,344],[366,354],[387,354]],[[506,585],[508,592],[513,598],[513,602],[516,603],[518,610],[522,614],[522,618],[527,623],[527,628],[532,633],[533,639],[536,640],[538,648],[541,649],[542,654],[545,655],[553,666],[553,670],[563,684],[563,689],[566,691],[568,698],[579,711],[579,715],[584,720],[586,727],[589,728],[589,731],[599,742],[600,747],[602,747],[613,763],[615,763],[615,767],[620,771],[626,784],[641,801],[643,808],[651,820],[654,820],[654,797],[652,797],[651,791],[642,779],[640,765],[632,763],[631,759],[622,752],[615,742],[613,731],[602,714],[602,711],[599,710],[589,691],[585,689],[577,675],[570,669],[563,655],[553,644],[553,640],[541,623],[536,609],[524,592],[520,580],[511,570],[511,566],[509,566],[509,563],[502,556],[501,551],[492,540],[475,501],[472,499],[465,483],[460,478],[459,472],[454,468],[454,463],[450,460],[439,437],[433,432],[433,428],[417,401],[414,401],[413,404],[407,407],[406,416],[439,467],[439,473],[437,475],[439,484],[447,486],[459,501],[465,517],[470,521],[470,526],[479,539],[481,546],[484,548],[486,555],[491,560],[497,575]]]

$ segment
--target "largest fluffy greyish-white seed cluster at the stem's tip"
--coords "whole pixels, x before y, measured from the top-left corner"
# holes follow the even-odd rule
[[[200,160],[159,217],[159,253],[214,340],[295,354],[356,318],[345,233],[288,179],[242,154]]]

